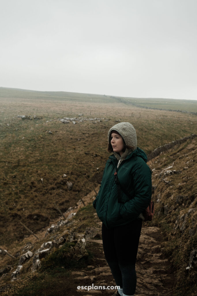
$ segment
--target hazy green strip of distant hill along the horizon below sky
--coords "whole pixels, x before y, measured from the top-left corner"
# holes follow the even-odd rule
[[[152,99],[152,98],[126,98],[99,94],[80,94],[64,91],[31,91],[23,89],[9,89],[0,87],[0,98],[42,100],[42,101],[69,101],[86,103],[124,103],[136,107],[149,107],[167,110],[182,110],[197,112],[197,100],[179,99]]]

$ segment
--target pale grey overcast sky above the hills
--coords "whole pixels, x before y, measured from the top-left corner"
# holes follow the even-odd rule
[[[196,0],[5,0],[0,86],[197,99]]]

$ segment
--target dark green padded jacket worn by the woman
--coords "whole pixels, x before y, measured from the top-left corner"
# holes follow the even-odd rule
[[[107,228],[120,226],[138,218],[151,201],[151,170],[146,164],[147,157],[137,147],[117,168],[118,160],[111,155],[105,165],[99,193],[93,202],[100,220]],[[121,187],[131,195],[129,198],[121,191],[118,202],[117,184],[114,180],[117,170]],[[132,198],[133,197],[133,198]]]

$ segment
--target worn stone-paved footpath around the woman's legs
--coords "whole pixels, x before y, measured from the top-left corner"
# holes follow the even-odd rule
[[[102,223],[97,220],[99,234]],[[169,270],[169,262],[163,258],[160,241],[162,236],[158,227],[142,227],[136,262],[137,287],[136,296],[170,296],[173,274]],[[94,266],[87,266],[80,272],[73,272],[76,290],[73,296],[113,295],[113,289],[77,289],[78,286],[115,286],[110,268],[105,260],[102,240],[87,239],[87,248],[97,251]]]

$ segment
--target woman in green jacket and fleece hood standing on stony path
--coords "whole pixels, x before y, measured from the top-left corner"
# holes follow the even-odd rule
[[[131,123],[121,122],[110,128],[108,142],[113,155],[105,165],[93,206],[102,221],[105,258],[120,287],[114,295],[133,296],[142,212],[151,201],[151,170],[145,152],[137,147]]]

